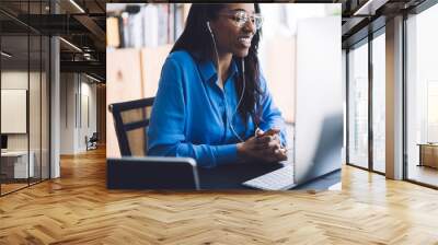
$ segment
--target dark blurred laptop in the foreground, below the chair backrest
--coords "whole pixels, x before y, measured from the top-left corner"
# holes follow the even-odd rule
[[[106,186],[108,189],[200,189],[195,160],[168,156],[107,159]]]

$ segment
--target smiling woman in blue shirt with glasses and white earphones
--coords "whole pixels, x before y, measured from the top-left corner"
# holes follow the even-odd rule
[[[286,160],[286,132],[257,59],[262,16],[252,3],[193,4],[161,71],[148,154],[199,166]]]

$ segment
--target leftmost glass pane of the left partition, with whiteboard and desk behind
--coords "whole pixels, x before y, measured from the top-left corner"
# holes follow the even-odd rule
[[[2,18],[2,16],[0,16]],[[1,34],[1,135],[7,138],[1,153],[1,194],[27,186],[33,176],[28,154],[28,36]],[[7,106],[8,105],[8,106]]]

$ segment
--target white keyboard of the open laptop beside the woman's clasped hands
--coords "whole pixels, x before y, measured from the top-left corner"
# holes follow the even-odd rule
[[[295,186],[293,166],[286,164],[281,168],[250,179],[243,183],[243,185],[264,190],[287,190]]]

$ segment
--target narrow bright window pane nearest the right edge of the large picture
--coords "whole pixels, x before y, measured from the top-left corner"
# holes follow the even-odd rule
[[[368,45],[348,56],[348,161],[368,167]]]

